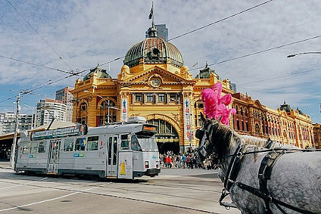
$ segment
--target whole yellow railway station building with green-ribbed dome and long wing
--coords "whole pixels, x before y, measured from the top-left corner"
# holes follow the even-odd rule
[[[237,113],[230,117],[230,126],[235,131],[300,148],[312,147],[309,116],[287,103],[275,110],[248,94],[237,93],[230,81],[221,80],[207,65],[193,77],[180,51],[159,38],[153,24],[148,37],[127,51],[116,78],[98,64],[83,79],[76,80],[71,91],[73,122],[96,127],[143,116],[148,123],[158,125],[156,142],[160,153],[183,153],[198,146],[194,133],[202,125],[201,91],[217,82],[223,85],[223,95],[233,96],[229,108],[235,108]]]

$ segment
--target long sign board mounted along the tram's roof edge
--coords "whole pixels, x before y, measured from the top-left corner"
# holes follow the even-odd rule
[[[87,125],[69,126],[65,128],[56,128],[47,131],[36,131],[31,133],[31,141],[51,138],[63,138],[68,136],[81,136],[86,135],[88,131]]]

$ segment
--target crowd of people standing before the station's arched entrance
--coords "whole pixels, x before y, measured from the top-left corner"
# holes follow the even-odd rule
[[[203,163],[197,163],[193,153],[174,154],[173,151],[167,151],[160,154],[161,165],[165,168],[203,168],[216,169],[216,158],[207,158]]]

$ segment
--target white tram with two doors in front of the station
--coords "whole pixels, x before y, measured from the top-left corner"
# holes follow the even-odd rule
[[[34,132],[19,139],[16,173],[153,177],[161,173],[155,133],[157,126],[142,117],[96,128]]]

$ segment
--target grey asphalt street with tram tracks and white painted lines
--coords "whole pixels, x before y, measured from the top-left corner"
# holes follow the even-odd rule
[[[217,170],[162,168],[155,178],[102,182],[0,167],[0,213],[240,213],[218,204]]]

